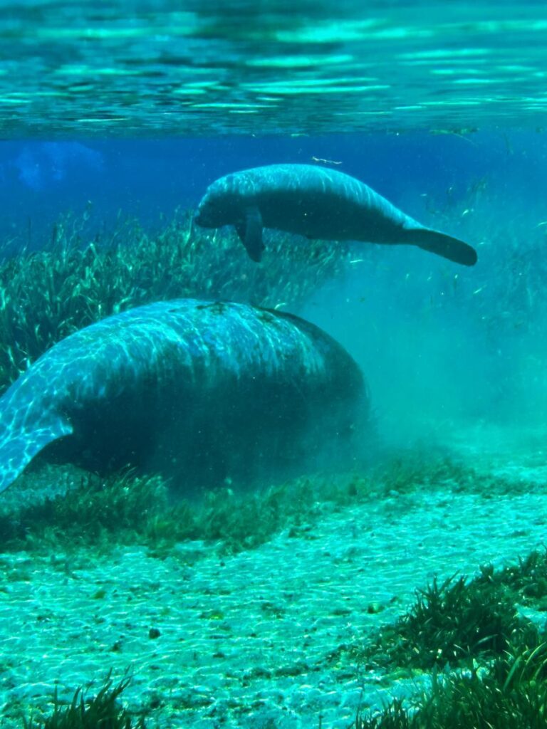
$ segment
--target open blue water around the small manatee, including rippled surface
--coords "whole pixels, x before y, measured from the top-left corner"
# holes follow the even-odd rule
[[[474,466],[500,426],[505,461],[533,432],[543,468],[546,49],[543,1],[0,0],[0,241],[39,250],[69,212],[83,243],[125,217],[155,233],[230,171],[335,166],[472,243],[478,264],[356,245],[295,313],[360,364],[396,448],[463,443]],[[43,699],[60,674],[28,682]]]

